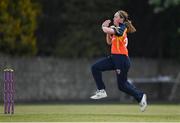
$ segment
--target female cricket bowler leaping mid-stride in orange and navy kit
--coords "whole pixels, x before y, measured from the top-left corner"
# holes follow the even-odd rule
[[[99,59],[91,67],[97,91],[90,98],[101,99],[107,97],[102,72],[115,70],[119,90],[133,96],[143,112],[147,107],[146,94],[127,81],[130,68],[127,33],[133,33],[136,29],[128,19],[128,13],[123,10],[119,10],[114,14],[113,26],[109,26],[110,22],[110,20],[106,20],[102,23],[102,31],[106,34],[107,44],[111,45],[111,55]]]

